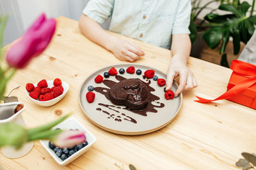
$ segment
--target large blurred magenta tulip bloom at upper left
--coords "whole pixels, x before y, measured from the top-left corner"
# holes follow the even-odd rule
[[[8,50],[6,60],[11,67],[23,68],[29,61],[44,52],[56,28],[56,20],[45,18],[42,13],[25,32],[24,36]]]

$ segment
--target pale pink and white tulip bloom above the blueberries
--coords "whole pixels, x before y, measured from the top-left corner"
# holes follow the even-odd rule
[[[83,131],[63,131],[52,142],[59,148],[71,148],[86,141]]]

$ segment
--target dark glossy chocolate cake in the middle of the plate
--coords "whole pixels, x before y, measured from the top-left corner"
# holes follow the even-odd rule
[[[122,80],[111,87],[109,98],[113,104],[127,106],[131,110],[143,110],[150,96],[148,87],[139,78]]]

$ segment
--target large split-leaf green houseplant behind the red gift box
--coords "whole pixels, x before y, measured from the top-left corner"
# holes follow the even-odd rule
[[[206,24],[204,27],[209,27],[203,34],[202,38],[207,45],[214,49],[221,44],[221,66],[228,67],[227,53],[225,49],[230,37],[233,38],[234,54],[237,55],[240,51],[240,43],[247,43],[252,37],[255,30],[256,15],[253,15],[255,0],[252,5],[239,0],[222,1],[218,10],[227,11],[225,15],[218,15],[210,12],[205,15]]]

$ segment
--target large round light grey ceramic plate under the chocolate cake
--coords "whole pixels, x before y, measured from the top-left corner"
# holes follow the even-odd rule
[[[141,69],[141,75],[137,75],[136,73],[126,73],[127,67],[130,66],[134,66],[136,70]],[[159,106],[160,103],[164,104],[163,108],[156,108],[157,113],[148,112],[147,116],[142,116],[137,113],[133,113],[132,111],[124,110],[125,106],[115,106],[115,104],[112,104],[111,101],[106,99],[103,94],[100,94],[95,90],[93,90],[95,93],[95,100],[93,103],[88,103],[86,100],[88,86],[92,85],[93,87],[106,87],[104,83],[95,83],[94,78],[98,74],[103,76],[103,73],[109,71],[111,67],[115,67],[117,71],[119,71],[120,68],[124,68],[125,73],[120,74],[118,72],[118,75],[124,76],[125,78],[140,78],[140,80],[143,80],[146,83],[148,81],[147,79],[143,79],[144,72],[148,69],[154,69],[152,67],[139,64],[118,64],[115,66],[104,67],[88,76],[88,78],[83,81],[79,90],[79,103],[86,117],[88,117],[88,119],[91,120],[94,124],[98,125],[102,129],[105,129],[106,131],[114,132],[117,134],[146,134],[148,132],[153,132],[164,127],[165,125],[172,122],[173,118],[177,116],[177,113],[179,112],[180,106],[182,104],[182,94],[171,100],[166,100],[164,98],[165,86],[159,87],[159,85],[157,85],[157,81],[154,81],[152,78],[150,79],[150,87],[155,89],[152,94],[160,97],[159,101],[153,101],[152,104],[157,106]],[[164,78],[164,80],[166,80],[166,74],[157,69],[154,69],[154,71],[158,78]],[[112,80],[118,82],[115,76],[109,76],[109,78],[104,78],[104,80]],[[178,85],[174,81],[172,90],[175,92],[177,87]],[[106,107],[99,105],[99,103],[112,106]],[[109,113],[109,115],[106,113]],[[136,120],[136,123],[134,123],[134,120]]]

